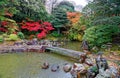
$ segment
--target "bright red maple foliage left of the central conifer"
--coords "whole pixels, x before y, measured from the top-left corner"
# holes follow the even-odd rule
[[[21,28],[27,29],[28,31],[34,31],[36,33],[39,32],[39,34],[37,34],[38,39],[46,37],[46,34],[49,31],[54,29],[51,23],[42,22],[42,21],[37,21],[37,22],[34,22],[34,21],[25,22],[25,21],[23,21],[21,23]]]

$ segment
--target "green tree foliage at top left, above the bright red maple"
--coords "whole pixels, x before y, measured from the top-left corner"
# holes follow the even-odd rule
[[[48,19],[48,13],[45,9],[45,0],[18,0],[18,4],[11,4],[19,10],[19,13],[15,14],[13,17],[16,21],[21,22],[26,18],[36,21],[45,21]]]

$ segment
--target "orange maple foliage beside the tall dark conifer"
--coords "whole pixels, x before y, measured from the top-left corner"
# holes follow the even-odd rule
[[[67,12],[67,18],[71,21],[72,24],[77,23],[81,17],[79,12]]]

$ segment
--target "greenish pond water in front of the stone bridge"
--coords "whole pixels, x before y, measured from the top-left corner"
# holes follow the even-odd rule
[[[60,70],[41,69],[44,62],[58,64]],[[63,64],[73,64],[69,57],[52,53],[4,53],[0,54],[0,78],[71,78],[62,70]]]

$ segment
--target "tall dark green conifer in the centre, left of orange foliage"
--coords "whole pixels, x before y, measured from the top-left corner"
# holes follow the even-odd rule
[[[66,24],[69,23],[67,18],[67,12],[73,12],[74,6],[72,3],[68,1],[62,1],[58,5],[56,5],[52,11],[53,19],[51,22],[53,26],[57,29],[58,33],[60,33],[60,29],[64,28]]]

